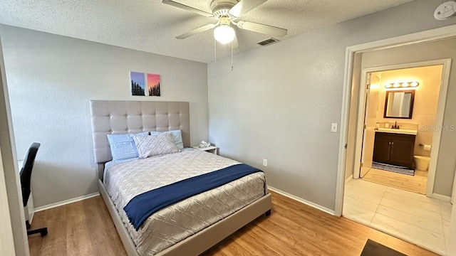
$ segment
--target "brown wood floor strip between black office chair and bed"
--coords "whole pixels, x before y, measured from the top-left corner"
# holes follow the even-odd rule
[[[30,255],[127,255],[103,198],[35,213],[31,228],[48,228],[48,235],[28,236]]]

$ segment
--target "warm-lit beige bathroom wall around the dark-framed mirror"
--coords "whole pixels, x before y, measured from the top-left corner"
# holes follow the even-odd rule
[[[390,125],[398,122],[400,125],[418,124],[418,134],[415,139],[415,155],[430,156],[430,151],[423,150],[419,144],[432,144],[432,135],[437,112],[437,100],[442,78],[442,65],[389,70],[381,73],[380,96],[378,100],[377,122],[388,122]],[[385,110],[385,84],[390,82],[418,81],[415,88],[412,119],[383,118]],[[408,89],[407,89],[408,90]]]

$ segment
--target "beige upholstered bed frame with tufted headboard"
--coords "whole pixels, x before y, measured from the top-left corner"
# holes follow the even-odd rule
[[[90,100],[93,151],[97,164],[98,188],[108,207],[129,256],[139,256],[133,240],[103,185],[104,164],[112,159],[106,134],[126,134],[180,129],[184,146],[190,146],[189,102],[139,102]],[[157,256],[199,255],[260,215],[271,213],[271,194],[227,216],[185,240],[168,247]]]

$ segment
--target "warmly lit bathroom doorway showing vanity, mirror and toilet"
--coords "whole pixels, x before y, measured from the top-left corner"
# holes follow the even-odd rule
[[[442,72],[441,61],[363,70],[353,178],[420,194],[433,187]]]

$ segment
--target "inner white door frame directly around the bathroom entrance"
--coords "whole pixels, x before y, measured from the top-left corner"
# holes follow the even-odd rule
[[[359,87],[359,105],[358,105],[358,122],[357,122],[357,132],[356,132],[356,149],[355,149],[355,169],[353,170],[353,178],[359,178],[360,176],[360,164],[361,164],[361,151],[363,150],[363,127],[364,124],[364,107],[366,105],[366,78],[368,73],[379,72],[379,71],[388,71],[388,70],[398,70],[403,68],[419,68],[432,65],[442,65],[442,77],[440,78],[440,88],[439,96],[437,101],[437,112],[435,112],[435,122],[436,127],[442,127],[443,125],[443,115],[445,114],[445,103],[447,101],[447,90],[450,80],[450,68],[451,68],[451,59],[442,59],[442,60],[427,60],[417,63],[405,63],[400,65],[388,65],[383,67],[376,68],[364,68],[361,71],[361,84]],[[437,157],[440,149],[440,137],[442,136],[442,129],[437,129],[436,132],[432,134],[432,151],[430,152],[430,164],[429,171],[427,172],[427,184],[426,184],[426,196],[432,197],[432,192],[434,189],[435,182],[435,172],[437,170]],[[358,159],[358,160],[357,160]]]

